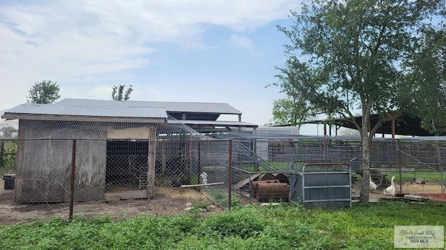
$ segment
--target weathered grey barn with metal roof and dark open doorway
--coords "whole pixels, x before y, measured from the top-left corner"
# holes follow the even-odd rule
[[[199,174],[195,142],[242,128],[255,133],[257,125],[241,116],[227,103],[63,99],[16,106],[1,116],[19,121],[15,201],[69,201],[73,188],[75,201],[151,198],[162,181],[155,172],[169,181]],[[123,185],[127,194],[116,192]]]

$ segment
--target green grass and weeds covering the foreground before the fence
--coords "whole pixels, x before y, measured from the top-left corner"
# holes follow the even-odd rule
[[[446,203],[245,206],[220,215],[75,217],[0,226],[0,249],[393,249],[395,225],[445,226]]]

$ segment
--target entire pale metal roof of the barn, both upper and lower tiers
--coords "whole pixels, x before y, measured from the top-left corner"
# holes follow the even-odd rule
[[[238,115],[239,121],[217,121],[222,114]],[[257,128],[256,124],[241,122],[241,114],[227,103],[63,99],[54,104],[22,104],[6,110],[1,117],[95,122],[168,122],[185,124],[201,133]]]

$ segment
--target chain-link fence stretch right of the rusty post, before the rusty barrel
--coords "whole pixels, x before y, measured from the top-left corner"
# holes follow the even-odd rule
[[[271,138],[260,135],[234,140],[234,143],[239,144],[234,148],[239,148],[236,153],[241,154],[235,156],[233,162],[233,188],[240,199],[248,202],[288,201],[286,192],[290,191],[290,177],[296,166],[312,163],[348,164],[352,194],[360,193],[360,138]],[[445,153],[443,138],[375,138],[371,146],[370,175],[378,188],[371,190],[371,198],[387,197],[383,191],[390,185],[394,185],[399,194],[444,193],[442,159],[445,159]]]

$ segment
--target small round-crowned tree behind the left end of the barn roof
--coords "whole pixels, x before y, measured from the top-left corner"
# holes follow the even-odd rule
[[[57,101],[59,95],[59,85],[56,82],[43,80],[40,83],[34,83],[33,87],[28,90],[29,95],[26,96],[28,103],[51,104]]]

